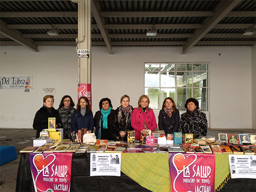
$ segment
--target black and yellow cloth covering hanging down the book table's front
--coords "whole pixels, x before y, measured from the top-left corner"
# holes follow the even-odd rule
[[[120,177],[90,176],[90,154],[74,153],[70,191],[171,192],[168,153],[122,153],[121,171]],[[255,192],[255,179],[231,180],[229,175],[228,155],[216,154],[215,191]],[[34,191],[28,153],[21,154],[16,191]]]

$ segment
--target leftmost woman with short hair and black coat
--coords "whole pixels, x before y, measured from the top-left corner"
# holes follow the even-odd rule
[[[48,118],[55,117],[55,128],[63,128],[59,112],[53,108],[54,97],[53,95],[46,95],[43,97],[43,107],[41,107],[34,118],[33,129],[37,130],[36,139],[39,138],[40,132],[43,129],[48,129]]]

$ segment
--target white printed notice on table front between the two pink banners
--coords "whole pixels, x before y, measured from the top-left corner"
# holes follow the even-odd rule
[[[121,153],[91,153],[90,176],[121,176]]]

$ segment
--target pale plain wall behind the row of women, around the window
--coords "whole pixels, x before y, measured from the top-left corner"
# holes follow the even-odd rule
[[[0,127],[32,128],[35,112],[46,95],[42,88],[56,89],[55,108],[65,94],[77,101],[75,46],[40,46],[39,53],[21,46],[0,49],[0,76],[33,76],[30,92],[0,90]],[[128,94],[137,107],[139,96],[144,94],[145,62],[209,62],[210,127],[252,128],[251,47],[194,47],[185,55],[180,47],[114,47],[113,52],[110,55],[106,47],[91,50],[94,113],[102,97],[109,97],[116,108],[120,97]]]

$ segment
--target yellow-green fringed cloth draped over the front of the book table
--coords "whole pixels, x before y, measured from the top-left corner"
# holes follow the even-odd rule
[[[215,190],[229,179],[228,157],[215,155]],[[152,192],[171,192],[168,153],[122,153],[121,171]]]

